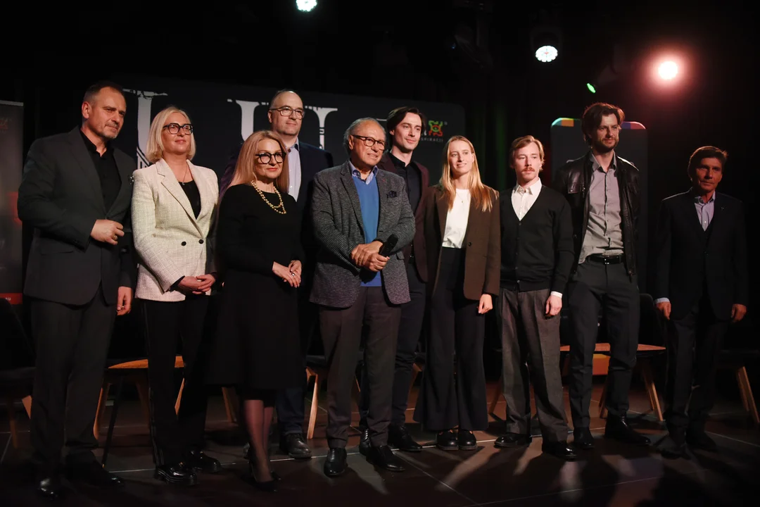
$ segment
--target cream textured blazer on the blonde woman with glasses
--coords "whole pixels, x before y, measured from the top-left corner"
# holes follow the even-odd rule
[[[210,236],[219,199],[217,173],[188,165],[201,195],[198,218],[163,159],[132,173],[132,231],[139,256],[135,297],[182,301],[184,293],[170,290],[177,280],[214,271]]]

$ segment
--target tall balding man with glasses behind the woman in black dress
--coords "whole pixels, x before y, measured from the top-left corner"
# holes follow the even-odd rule
[[[302,213],[302,244],[306,258],[302,263],[302,284],[299,289],[299,328],[301,332],[301,348],[306,361],[312,337],[317,328],[317,307],[309,303],[314,264],[318,246],[312,231],[312,220],[309,217],[309,203],[314,188],[314,176],[321,170],[333,165],[332,155],[319,147],[298,140],[301,132],[304,109],[301,97],[293,90],[280,90],[274,94],[269,103],[268,119],[271,130],[277,132],[285,141],[288,148],[288,193],[296,199],[299,211]],[[233,154],[220,180],[220,198],[235,174],[239,150]],[[295,156],[294,156],[295,155]],[[306,364],[304,364],[306,371]],[[280,448],[290,458],[306,459],[312,457],[309,445],[303,436],[304,420],[304,390],[306,389],[306,373],[304,385],[290,388],[277,393],[277,426],[280,429]]]

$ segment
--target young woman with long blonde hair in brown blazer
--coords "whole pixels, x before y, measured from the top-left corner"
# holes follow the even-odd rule
[[[438,432],[435,443],[445,451],[477,448],[473,430],[488,427],[483,339],[485,314],[499,293],[498,198],[480,181],[472,143],[449,139],[441,181],[425,196],[430,333],[414,413]]]

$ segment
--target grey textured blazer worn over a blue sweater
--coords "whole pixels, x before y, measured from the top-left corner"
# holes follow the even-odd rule
[[[410,300],[402,250],[414,238],[414,214],[401,176],[379,169],[375,176],[380,195],[377,239],[385,242],[391,234],[398,238],[388,264],[380,271],[382,287],[388,300],[398,305]],[[351,251],[366,242],[359,193],[348,162],[316,174],[312,220],[320,249],[311,301],[348,308],[356,301],[361,287],[361,270],[351,261]]]

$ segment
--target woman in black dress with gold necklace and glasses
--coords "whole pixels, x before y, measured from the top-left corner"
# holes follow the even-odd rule
[[[277,390],[299,386],[300,214],[287,194],[287,149],[279,135],[254,132],[242,145],[220,203],[217,254],[223,277],[210,382],[236,385],[251,441],[251,478],[274,490],[268,436]]]

